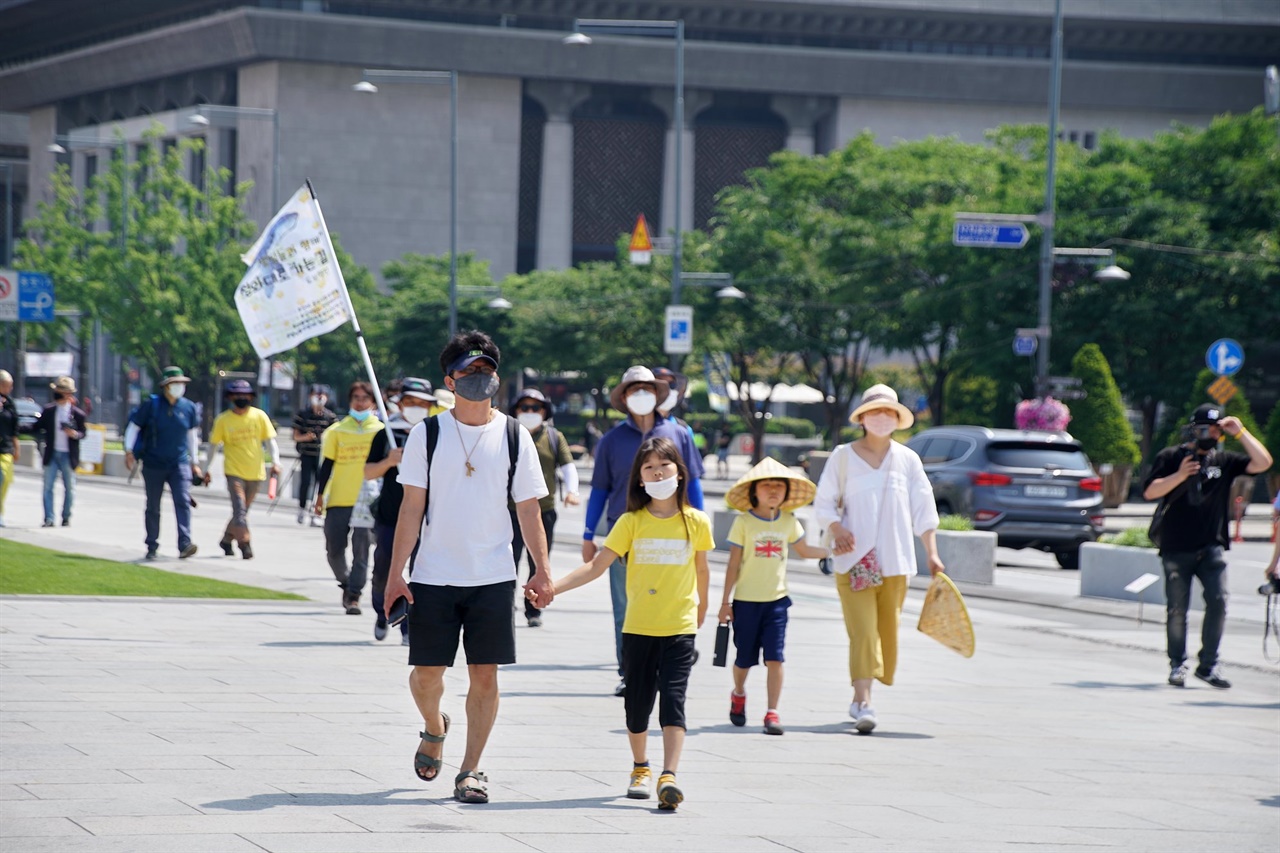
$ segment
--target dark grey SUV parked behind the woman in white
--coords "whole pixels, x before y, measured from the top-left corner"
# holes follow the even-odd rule
[[[940,514],[959,514],[1006,548],[1050,551],[1078,569],[1102,533],[1102,480],[1068,433],[937,426],[906,443],[924,462]]]

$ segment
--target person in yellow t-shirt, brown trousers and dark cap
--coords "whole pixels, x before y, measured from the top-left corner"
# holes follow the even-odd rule
[[[214,432],[209,435],[209,451],[205,453],[205,485],[209,485],[209,466],[219,444],[223,447],[223,471],[227,475],[227,492],[232,496],[232,520],[223,532],[223,553],[228,557],[232,542],[237,543],[244,560],[253,558],[253,546],[250,543],[248,508],[257,497],[262,480],[262,451],[266,450],[271,474],[279,475],[280,448],[275,443],[275,425],[265,411],[253,406],[253,386],[244,379],[232,379],[227,383],[227,400],[232,407],[214,419]]]

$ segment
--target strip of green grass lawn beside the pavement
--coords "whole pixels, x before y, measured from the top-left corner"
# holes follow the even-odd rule
[[[0,539],[0,594],[154,596],[157,598],[283,598],[305,596],[180,575]]]

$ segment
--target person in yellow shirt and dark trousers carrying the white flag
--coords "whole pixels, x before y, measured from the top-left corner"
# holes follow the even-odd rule
[[[334,579],[342,587],[342,606],[348,616],[360,616],[360,593],[369,579],[369,546],[372,530],[351,526],[351,511],[365,482],[365,461],[383,421],[374,412],[374,387],[351,383],[347,416],[324,430],[320,438],[320,478],[316,515],[324,514],[325,553]],[[347,540],[351,540],[351,569]]]

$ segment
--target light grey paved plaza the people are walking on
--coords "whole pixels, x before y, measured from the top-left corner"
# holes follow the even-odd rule
[[[38,493],[20,473],[14,526],[0,535],[141,557],[137,485],[81,478],[67,529],[38,529]],[[374,642],[367,594],[364,616],[343,615],[321,532],[297,525],[284,501],[271,515],[260,505],[257,558],[221,557],[225,496],[196,496],[201,553],[173,558],[166,507],[157,566],[310,601],[0,598],[3,849],[1280,849],[1280,676],[1262,656],[1262,599],[1251,593],[1261,543],[1233,551],[1231,690],[1164,683],[1158,608],[1139,625],[1133,606],[1071,601],[1073,573],[1005,569],[993,597],[970,596],[972,660],[914,630],[922,596],[910,593],[899,683],[877,686],[870,736],[846,716],[833,581],[797,571],[786,735],[760,733],[763,672],[748,684],[748,727],[728,722],[730,675],[710,665],[705,625],[680,772],[687,799],[675,815],[623,797],[630,753],[600,580],[557,599],[540,629],[517,620],[520,662],[502,670],[483,766],[493,802],[461,806],[448,795],[465,671],[447,681],[443,779],[422,784],[406,649]],[[556,574],[577,562],[580,516],[568,515]],[[716,598],[723,558],[712,562]]]

